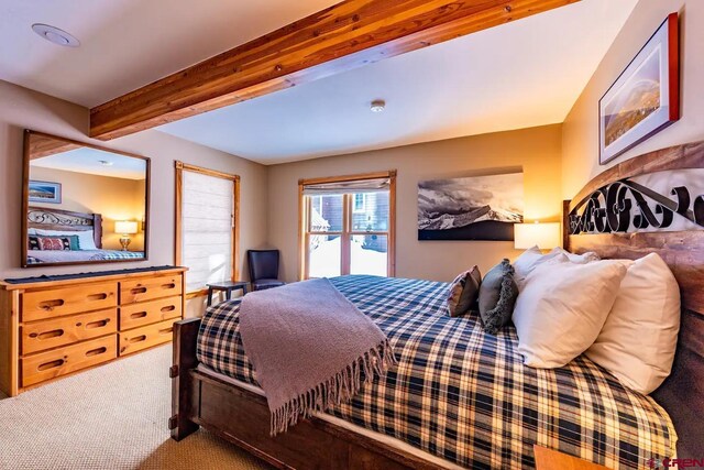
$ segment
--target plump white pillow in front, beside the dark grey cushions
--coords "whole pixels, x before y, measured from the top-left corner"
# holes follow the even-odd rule
[[[564,254],[537,266],[514,309],[518,352],[532,368],[559,368],[596,339],[631,261],[569,262]]]

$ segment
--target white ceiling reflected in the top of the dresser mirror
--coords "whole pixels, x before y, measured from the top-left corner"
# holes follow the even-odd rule
[[[109,162],[110,165],[102,162]],[[31,166],[113,178],[146,179],[146,162],[144,160],[87,146],[32,160]]]

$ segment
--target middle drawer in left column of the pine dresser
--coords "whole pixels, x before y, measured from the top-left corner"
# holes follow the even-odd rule
[[[72,342],[98,338],[118,330],[118,309],[72,315],[22,326],[22,353],[44,351]]]

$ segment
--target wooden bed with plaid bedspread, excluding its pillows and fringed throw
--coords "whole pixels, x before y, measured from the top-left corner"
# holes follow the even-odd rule
[[[536,444],[610,468],[644,468],[675,453],[701,458],[704,433],[693,416],[704,414],[704,232],[584,234],[576,221],[584,201],[609,184],[703,166],[703,144],[642,155],[565,204],[565,248],[630,259],[656,251],[680,282],[675,365],[652,396],[583,357],[549,371],[525,368],[513,329],[493,338],[476,320],[444,314],[442,283],[341,277],[333,284],[394,342],[396,370],[331,418],[317,415],[271,438],[268,408],[238,336],[238,303],[221,304],[202,320],[176,325],[173,437],[204,426],[280,468],[531,468]]]

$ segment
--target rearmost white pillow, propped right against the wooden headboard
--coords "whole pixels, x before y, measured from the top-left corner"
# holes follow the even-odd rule
[[[664,261],[650,253],[620,284],[602,332],[585,356],[645,395],[670,375],[680,330],[680,286]]]

